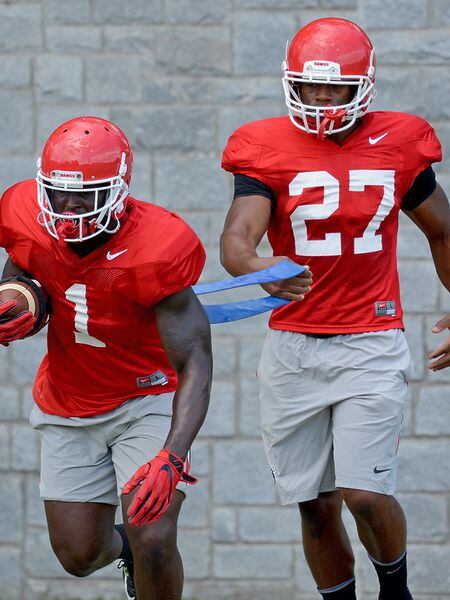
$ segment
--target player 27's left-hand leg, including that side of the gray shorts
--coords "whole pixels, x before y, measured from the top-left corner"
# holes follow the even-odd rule
[[[342,500],[333,492],[330,384],[316,357],[320,341],[269,331],[258,369],[262,436],[282,504],[299,504],[306,559],[319,589],[344,585],[345,592],[328,597],[354,600],[354,558]]]

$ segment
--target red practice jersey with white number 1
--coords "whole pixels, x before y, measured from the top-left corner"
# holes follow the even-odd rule
[[[39,210],[34,180],[0,200],[0,245],[51,301],[36,404],[85,417],[176,389],[151,307],[199,278],[205,252],[192,229],[174,213],[128,198],[119,231],[79,257],[38,223]]]

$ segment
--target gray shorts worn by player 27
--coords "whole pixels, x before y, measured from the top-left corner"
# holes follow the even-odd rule
[[[325,339],[269,330],[261,425],[282,504],[336,488],[394,493],[410,372],[400,329]]]

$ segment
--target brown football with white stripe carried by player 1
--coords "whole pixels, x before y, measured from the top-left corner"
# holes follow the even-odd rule
[[[0,304],[15,300],[16,306],[1,316],[0,322],[6,322],[25,311],[31,311],[36,317],[32,333],[37,333],[48,321],[49,301],[44,288],[35,279],[16,276],[0,280]]]

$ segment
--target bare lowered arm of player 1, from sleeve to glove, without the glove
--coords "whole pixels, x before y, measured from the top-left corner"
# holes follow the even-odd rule
[[[164,447],[186,457],[208,410],[212,378],[209,321],[191,288],[153,307],[162,344],[178,375],[172,425]]]

